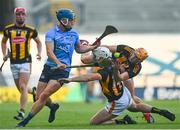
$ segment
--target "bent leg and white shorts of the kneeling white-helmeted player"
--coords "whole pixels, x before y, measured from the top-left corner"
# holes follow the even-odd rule
[[[109,102],[102,110],[96,113],[91,119],[90,124],[132,124],[135,123],[131,118],[125,118],[128,120],[114,120],[113,118],[120,115],[126,108],[132,103],[131,95],[127,88],[124,87],[123,95],[112,102]]]

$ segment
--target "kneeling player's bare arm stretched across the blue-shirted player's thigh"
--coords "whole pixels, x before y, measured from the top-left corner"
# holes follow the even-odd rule
[[[81,75],[73,78],[61,78],[58,79],[58,82],[62,84],[62,83],[70,83],[70,82],[89,82],[89,81],[101,80],[101,79],[102,77],[99,73],[93,73],[93,74]]]

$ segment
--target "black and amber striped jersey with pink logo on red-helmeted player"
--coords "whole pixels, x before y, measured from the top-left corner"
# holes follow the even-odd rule
[[[16,24],[10,24],[5,27],[3,33],[5,37],[9,38],[11,63],[31,63],[30,41],[38,36],[36,29],[28,25],[18,27]]]

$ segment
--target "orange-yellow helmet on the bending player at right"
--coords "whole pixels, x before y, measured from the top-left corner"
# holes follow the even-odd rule
[[[135,49],[135,54],[141,62],[148,57],[148,52],[144,48]]]

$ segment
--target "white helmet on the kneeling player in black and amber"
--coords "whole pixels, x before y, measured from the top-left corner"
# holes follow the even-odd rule
[[[98,47],[92,51],[92,54],[100,66],[105,67],[111,64],[112,53],[107,47]]]

